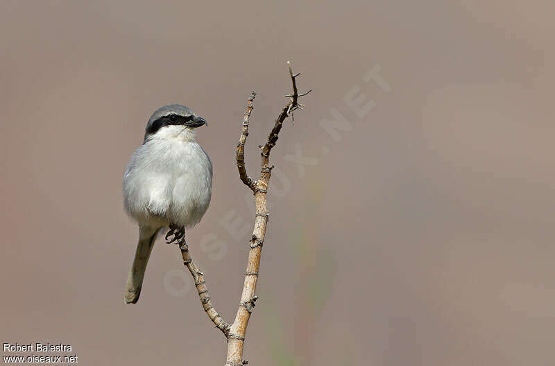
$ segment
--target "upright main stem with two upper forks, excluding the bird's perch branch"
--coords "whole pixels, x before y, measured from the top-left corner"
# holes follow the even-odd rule
[[[288,62],[287,65],[289,67],[289,76],[291,76],[291,83],[293,85],[293,93],[289,96],[291,99],[289,103],[282,108],[278,118],[275,119],[275,124],[268,135],[266,144],[260,146],[262,168],[260,171],[260,178],[257,181],[252,181],[252,179],[246,176],[246,169],[244,166],[239,167],[239,157],[244,158],[244,155],[239,156],[239,153],[244,154],[244,143],[246,141],[246,134],[248,134],[248,117],[250,116],[250,111],[252,110],[254,95],[251,95],[250,99],[248,99],[247,113],[245,113],[246,117],[243,122],[243,129],[241,137],[239,138],[239,144],[237,145],[237,167],[239,168],[239,178],[241,178],[241,181],[243,181],[243,183],[255,192],[256,215],[253,236],[249,240],[248,262],[245,272],[243,292],[241,293],[241,300],[239,301],[239,309],[237,310],[237,315],[235,315],[234,322],[231,324],[231,328],[228,333],[228,356],[226,358],[225,365],[237,366],[243,363],[243,345],[245,342],[246,328],[248,326],[250,314],[253,313],[255,301],[258,299],[258,297],[255,296],[255,290],[258,280],[262,245],[264,244],[266,225],[268,224],[269,217],[268,208],[266,206],[266,193],[268,192],[268,183],[273,169],[273,165],[270,165],[270,151],[275,146],[275,142],[278,141],[278,135],[281,131],[282,124],[289,116],[289,113],[303,107],[302,104],[298,103],[300,95],[298,94],[296,85],[296,77],[299,76],[300,73],[293,74],[291,63]],[[304,95],[309,92],[304,93]],[[239,151],[239,147],[241,147],[241,151]],[[244,165],[244,160],[241,161]],[[250,179],[250,181],[248,179],[245,180],[245,177]]]

